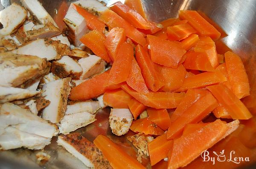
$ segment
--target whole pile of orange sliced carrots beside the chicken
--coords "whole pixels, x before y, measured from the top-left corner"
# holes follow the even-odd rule
[[[153,168],[191,163],[230,134],[233,124],[223,119],[251,118],[256,124],[240,101],[250,95],[244,65],[231,51],[217,53],[215,42],[224,31],[206,16],[179,11],[179,18],[157,24],[147,20],[140,0],[117,2],[99,17],[76,9],[91,30],[81,42],[112,67],[74,87],[70,99],[104,94],[106,105],[129,108],[134,117],[130,129],[155,138],[148,143]],[[103,34],[105,25],[108,34]],[[137,119],[144,110],[148,117]],[[203,123],[211,112],[222,120]],[[94,144],[114,169],[145,168],[103,135]]]

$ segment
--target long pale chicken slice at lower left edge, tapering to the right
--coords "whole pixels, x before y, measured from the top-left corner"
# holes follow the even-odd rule
[[[46,138],[52,138],[52,136],[58,134],[58,128],[55,124],[49,123],[43,118],[30,113],[29,110],[12,103],[5,103],[0,107],[0,135],[8,126]]]

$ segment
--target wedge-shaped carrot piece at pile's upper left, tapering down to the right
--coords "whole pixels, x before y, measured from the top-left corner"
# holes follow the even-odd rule
[[[105,35],[99,31],[93,30],[81,37],[81,42],[86,45],[94,54],[110,62],[108,51],[105,48]]]

